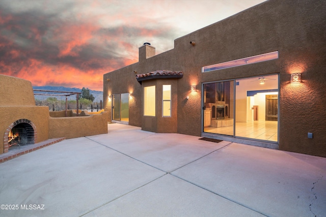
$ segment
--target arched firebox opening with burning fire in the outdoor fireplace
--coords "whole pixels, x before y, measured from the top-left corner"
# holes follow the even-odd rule
[[[8,146],[34,144],[34,129],[29,123],[18,123],[8,134]]]

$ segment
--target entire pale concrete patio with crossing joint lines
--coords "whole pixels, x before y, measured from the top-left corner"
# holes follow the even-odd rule
[[[325,216],[326,158],[108,132],[1,163],[0,216]]]

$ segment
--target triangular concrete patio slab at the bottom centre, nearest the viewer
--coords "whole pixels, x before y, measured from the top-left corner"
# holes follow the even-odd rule
[[[85,216],[264,216],[167,174]]]

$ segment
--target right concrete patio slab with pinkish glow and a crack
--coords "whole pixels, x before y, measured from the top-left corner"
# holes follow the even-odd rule
[[[266,216],[323,216],[326,159],[232,143],[172,173]]]

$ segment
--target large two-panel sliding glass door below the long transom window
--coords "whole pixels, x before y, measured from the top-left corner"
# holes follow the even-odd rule
[[[204,132],[278,141],[278,75],[204,84]]]

